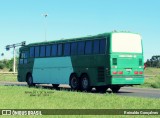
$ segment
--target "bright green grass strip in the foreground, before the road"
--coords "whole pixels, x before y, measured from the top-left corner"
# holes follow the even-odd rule
[[[0,90],[0,109],[160,109],[160,99],[118,96],[109,93],[56,91],[21,86],[0,86]],[[106,116],[100,117],[105,118]]]

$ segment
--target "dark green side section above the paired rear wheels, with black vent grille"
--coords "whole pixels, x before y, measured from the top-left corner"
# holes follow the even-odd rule
[[[72,56],[73,71],[78,77],[86,73],[89,76],[91,86],[106,85],[105,70],[106,67],[109,68],[106,57],[106,55]]]

